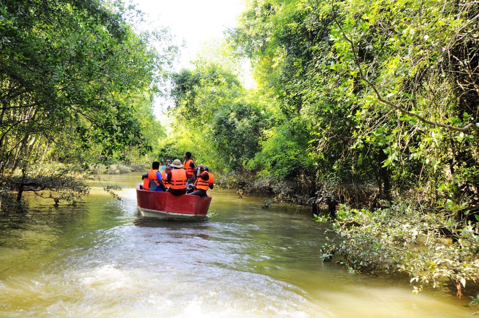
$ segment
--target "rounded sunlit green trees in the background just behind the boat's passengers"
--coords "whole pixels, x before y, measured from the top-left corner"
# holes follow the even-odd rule
[[[231,68],[205,60],[195,65],[194,70],[183,69],[171,77],[175,107],[170,118],[175,131],[160,157],[182,158],[190,151],[197,163],[215,171],[242,170],[259,150],[260,137],[271,121],[268,110],[242,88]]]

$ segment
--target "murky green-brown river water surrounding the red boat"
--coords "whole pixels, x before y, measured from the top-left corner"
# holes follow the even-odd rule
[[[0,317],[473,317],[442,291],[320,261],[323,225],[292,204],[212,191],[209,217],[143,217],[140,173],[77,206],[27,197],[0,214]]]

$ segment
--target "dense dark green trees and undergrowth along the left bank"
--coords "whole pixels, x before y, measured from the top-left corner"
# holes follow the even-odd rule
[[[165,130],[152,98],[177,48],[166,30],[137,32],[139,18],[121,1],[0,2],[4,208],[12,190],[17,201],[43,190],[75,201],[88,193],[78,173],[135,161],[157,146]]]

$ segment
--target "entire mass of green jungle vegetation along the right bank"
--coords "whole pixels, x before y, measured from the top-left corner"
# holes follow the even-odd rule
[[[252,0],[194,66],[171,77],[161,158],[310,204],[353,273],[459,296],[479,278],[477,1]]]

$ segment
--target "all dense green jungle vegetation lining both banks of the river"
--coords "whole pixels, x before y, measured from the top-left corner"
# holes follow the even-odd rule
[[[220,185],[310,205],[332,224],[324,261],[416,292],[479,278],[478,1],[250,0],[168,76],[170,35],[120,1],[0,9],[3,198],[74,200],[72,171],[191,151]],[[151,107],[167,78],[168,137]]]

